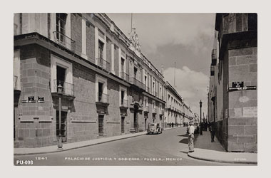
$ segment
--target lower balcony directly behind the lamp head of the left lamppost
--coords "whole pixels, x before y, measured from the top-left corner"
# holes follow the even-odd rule
[[[72,83],[66,83],[61,80],[53,80],[53,88],[51,88],[51,93],[53,96],[58,96],[57,93],[57,87],[58,85],[61,85],[63,87],[62,94],[63,97],[66,97],[70,100],[73,100],[75,97],[73,95],[73,84]]]

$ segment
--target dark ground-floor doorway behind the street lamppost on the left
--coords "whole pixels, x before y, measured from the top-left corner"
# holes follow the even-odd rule
[[[56,137],[59,135],[59,111],[56,110]],[[67,112],[61,111],[61,136],[62,142],[67,142]]]

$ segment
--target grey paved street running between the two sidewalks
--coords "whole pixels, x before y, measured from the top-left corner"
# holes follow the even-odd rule
[[[125,140],[42,155],[15,156],[14,164],[33,165],[240,165],[206,162],[188,157],[186,128],[165,130]],[[40,160],[39,160],[40,159]]]

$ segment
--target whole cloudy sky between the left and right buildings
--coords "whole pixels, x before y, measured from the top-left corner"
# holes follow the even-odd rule
[[[128,36],[131,14],[107,15]],[[175,66],[175,89],[195,113],[202,100],[206,115],[215,14],[133,13],[133,27],[142,53],[173,86]]]

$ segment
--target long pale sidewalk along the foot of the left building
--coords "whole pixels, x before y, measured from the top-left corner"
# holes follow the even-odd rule
[[[170,130],[170,129],[175,129],[179,127],[173,127],[173,128],[165,128],[164,130]],[[138,137],[140,135],[145,135],[147,132],[138,132],[138,133],[133,133],[133,134],[126,134],[126,135],[118,135],[114,137],[104,137],[104,138],[99,138],[95,140],[86,140],[83,142],[71,142],[71,143],[64,143],[63,144],[63,150],[58,150],[57,145],[52,145],[48,147],[35,147],[35,148],[27,148],[27,147],[21,147],[21,148],[14,148],[14,155],[37,155],[37,154],[46,154],[46,153],[51,153],[51,152],[63,152],[67,150],[73,150],[81,147],[88,147],[91,145],[98,145],[101,143],[106,143],[106,142],[113,142],[116,140],[123,140],[126,138],[131,138],[131,137]]]

